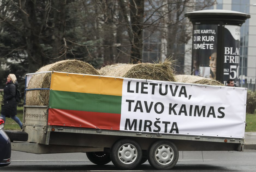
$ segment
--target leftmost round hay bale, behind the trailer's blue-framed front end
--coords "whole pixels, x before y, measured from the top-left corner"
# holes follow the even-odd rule
[[[86,62],[79,60],[62,60],[53,64],[48,64],[41,67],[36,72],[43,71],[57,71],[70,73],[83,73],[100,75],[94,67]],[[28,83],[27,89],[33,88],[49,88],[50,87],[50,73],[35,74]],[[26,105],[48,105],[49,90],[29,90],[26,92]]]

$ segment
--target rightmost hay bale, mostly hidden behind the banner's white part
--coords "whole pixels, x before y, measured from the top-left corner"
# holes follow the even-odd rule
[[[175,75],[177,82],[191,83],[191,84],[205,84],[205,85],[219,85],[224,86],[223,83],[214,79],[204,78],[194,75]]]

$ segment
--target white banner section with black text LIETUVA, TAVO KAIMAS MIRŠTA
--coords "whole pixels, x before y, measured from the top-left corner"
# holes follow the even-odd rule
[[[244,138],[246,88],[124,79],[120,130]]]

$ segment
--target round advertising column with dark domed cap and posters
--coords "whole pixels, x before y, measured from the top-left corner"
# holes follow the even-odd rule
[[[185,14],[193,23],[192,74],[239,86],[240,27],[250,15],[229,10]]]

